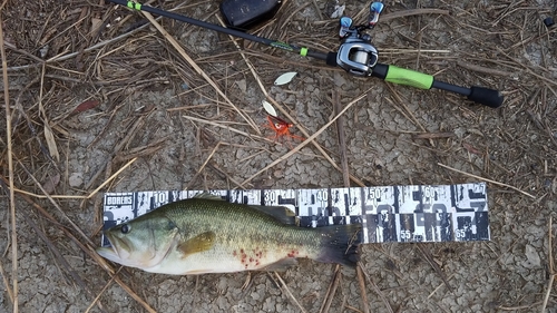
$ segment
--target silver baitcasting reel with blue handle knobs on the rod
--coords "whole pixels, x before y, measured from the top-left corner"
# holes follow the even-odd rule
[[[371,36],[363,31],[375,26],[382,10],[383,3],[371,3],[367,25],[354,27],[349,17],[342,17],[340,20],[339,37],[342,42],[336,55],[336,63],[354,76],[371,76],[378,62],[378,50],[371,45]]]

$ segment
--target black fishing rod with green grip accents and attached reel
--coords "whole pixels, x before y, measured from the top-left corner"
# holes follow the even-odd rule
[[[303,57],[324,60],[326,65],[341,67],[351,75],[361,77],[377,77],[389,82],[411,86],[419,89],[441,89],[466,96],[469,100],[491,108],[498,108],[502,105],[504,96],[495,89],[472,86],[470,88],[457,86],[437,80],[433,76],[416,70],[399,68],[392,65],[378,62],[378,50],[371,45],[371,36],[363,32],[372,29],[379,21],[379,16],[383,10],[383,3],[373,2],[370,6],[370,16],[368,23],[353,26],[352,19],[343,17],[340,19],[341,45],[338,52],[313,51],[305,47],[296,47],[286,42],[272,40],[254,35],[250,35],[236,29],[225,28],[218,25],[188,18],[186,16],[160,10],[154,7],[144,6],[139,2],[127,0],[108,0],[113,3],[125,6],[127,8],[145,11],[156,16],[166,17],[189,25],[195,25],[206,29],[215,30],[234,37],[243,38],[250,41],[263,43],[274,48],[283,49],[290,52],[300,53]]]

